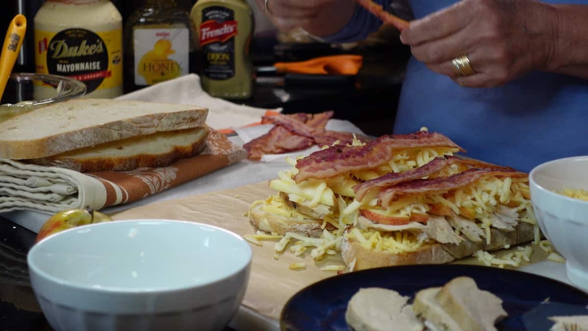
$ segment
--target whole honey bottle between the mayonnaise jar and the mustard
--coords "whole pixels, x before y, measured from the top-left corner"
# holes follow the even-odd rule
[[[192,24],[176,0],[145,0],[129,15],[124,39],[125,92],[191,72]]]

